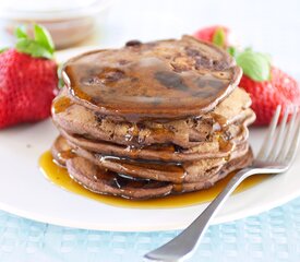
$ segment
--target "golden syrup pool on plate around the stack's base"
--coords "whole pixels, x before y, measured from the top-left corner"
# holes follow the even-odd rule
[[[214,187],[197,192],[169,195],[159,199],[149,200],[127,200],[119,196],[103,195],[94,193],[68,175],[65,168],[57,165],[52,159],[52,155],[49,151],[45,152],[39,158],[39,167],[45,177],[52,183],[61,187],[70,192],[83,195],[95,201],[99,201],[105,204],[121,206],[121,207],[137,207],[137,209],[168,209],[168,207],[183,207],[195,204],[201,204],[212,201],[217,194],[225,188],[235,172],[229,174],[226,178],[218,181]],[[267,179],[267,175],[253,176],[244,180],[235,191],[235,193],[242,192],[249,188]]]

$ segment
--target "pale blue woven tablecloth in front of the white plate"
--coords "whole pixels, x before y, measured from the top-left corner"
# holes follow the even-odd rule
[[[0,261],[137,262],[177,234],[74,229],[0,211]],[[190,261],[299,262],[300,198],[257,216],[211,226]]]

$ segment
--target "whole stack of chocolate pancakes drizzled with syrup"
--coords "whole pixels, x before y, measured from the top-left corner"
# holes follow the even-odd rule
[[[57,163],[91,191],[147,199],[212,187],[248,166],[255,115],[221,49],[179,40],[96,50],[69,60],[53,100]]]

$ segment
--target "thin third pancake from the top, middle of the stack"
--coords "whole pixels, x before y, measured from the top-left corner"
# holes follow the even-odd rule
[[[103,155],[130,157],[132,159],[187,162],[202,158],[227,157],[235,143],[243,142],[248,139],[247,126],[253,121],[254,115],[250,110],[240,126],[230,126],[226,132],[217,132],[212,140],[197,143],[196,146],[191,148],[182,148],[173,144],[154,144],[142,147],[124,146],[105,141],[88,140],[84,136],[72,135],[64,130],[59,130],[61,135],[73,145]]]

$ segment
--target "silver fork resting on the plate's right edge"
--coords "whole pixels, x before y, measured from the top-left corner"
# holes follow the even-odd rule
[[[226,188],[189,227],[160,248],[146,253],[144,255],[146,260],[176,262],[190,258],[214,215],[245,178],[257,174],[280,174],[289,169],[299,143],[300,114],[298,108],[293,108],[291,119],[287,123],[289,112],[286,110],[280,127],[276,128],[280,110],[281,107],[278,106],[252,166],[237,172]]]

